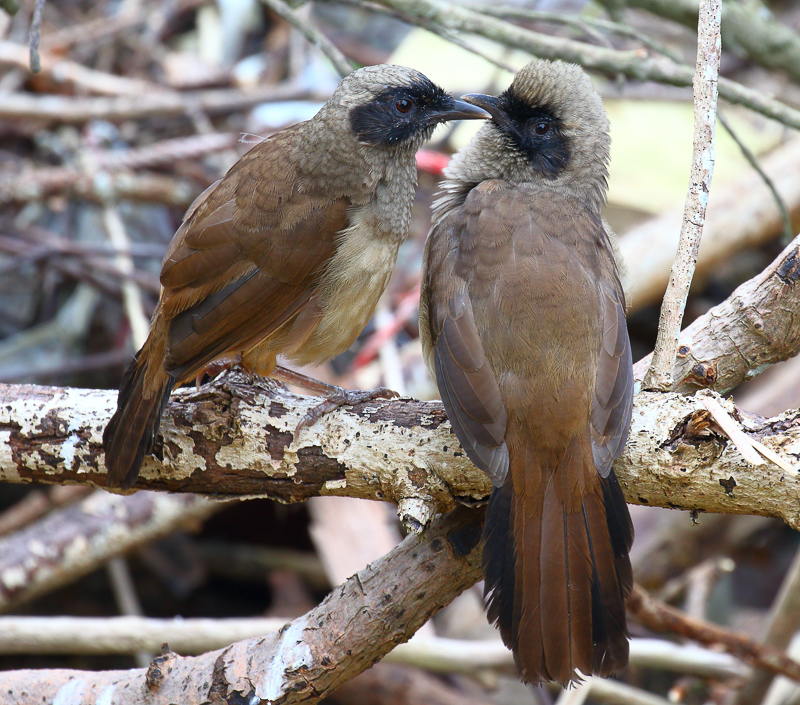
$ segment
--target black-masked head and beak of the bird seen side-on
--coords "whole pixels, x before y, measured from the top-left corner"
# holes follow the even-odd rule
[[[366,66],[342,80],[331,104],[348,110],[348,124],[365,145],[416,150],[447,120],[486,119],[489,114],[456,100],[425,75],[405,66]]]

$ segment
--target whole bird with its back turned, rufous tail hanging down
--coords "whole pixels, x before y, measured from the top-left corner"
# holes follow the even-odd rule
[[[628,661],[633,527],[612,463],[631,421],[625,296],[601,208],[608,119],[584,71],[535,61],[445,172],[420,334],[453,430],[494,490],[489,619],[521,678]]]

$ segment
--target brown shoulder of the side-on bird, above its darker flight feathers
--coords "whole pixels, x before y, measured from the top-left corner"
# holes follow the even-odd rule
[[[300,134],[289,128],[256,144],[187,211],[161,271],[170,308],[183,310],[255,270],[297,284],[331,256],[350,202],[299,174]]]

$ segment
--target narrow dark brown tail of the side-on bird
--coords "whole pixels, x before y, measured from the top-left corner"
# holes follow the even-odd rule
[[[130,489],[144,456],[153,449],[161,414],[175,380],[164,370],[163,353],[152,354],[151,334],[122,378],[117,410],[103,431],[108,486]],[[157,339],[157,338],[156,338]],[[157,360],[157,363],[150,362]]]

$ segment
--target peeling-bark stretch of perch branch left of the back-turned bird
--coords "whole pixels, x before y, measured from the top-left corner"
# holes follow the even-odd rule
[[[0,386],[0,481],[105,487],[102,430],[116,392]],[[179,390],[138,489],[297,502],[317,495],[386,499],[420,526],[485,498],[439,402],[366,402],[294,438],[313,397],[231,373]]]

